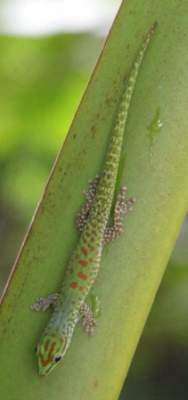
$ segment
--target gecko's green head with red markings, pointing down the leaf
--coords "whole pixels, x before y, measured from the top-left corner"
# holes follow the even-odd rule
[[[61,362],[68,347],[65,335],[58,331],[46,332],[37,347],[38,375],[48,375]]]

